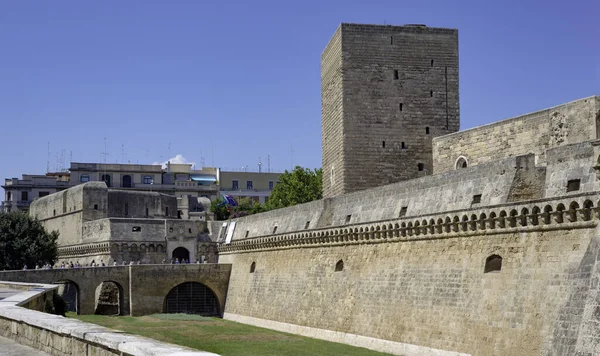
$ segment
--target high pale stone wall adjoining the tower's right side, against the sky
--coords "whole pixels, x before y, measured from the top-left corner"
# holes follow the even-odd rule
[[[437,137],[433,140],[434,174],[454,170],[465,157],[470,166],[600,138],[600,97],[589,97],[531,114]]]

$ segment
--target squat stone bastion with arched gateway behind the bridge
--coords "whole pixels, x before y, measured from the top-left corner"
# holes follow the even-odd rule
[[[88,182],[35,200],[30,214],[59,231],[59,263],[161,263],[178,247],[216,262],[206,222],[175,219],[174,196]]]

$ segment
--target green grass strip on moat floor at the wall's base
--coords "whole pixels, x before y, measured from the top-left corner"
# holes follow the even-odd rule
[[[155,314],[117,317],[68,313],[67,316],[223,356],[387,355],[335,342],[198,315]]]

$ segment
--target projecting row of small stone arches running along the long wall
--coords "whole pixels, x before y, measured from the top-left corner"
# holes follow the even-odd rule
[[[588,193],[239,239],[220,244],[219,253],[589,228],[600,220],[599,206],[600,194]]]

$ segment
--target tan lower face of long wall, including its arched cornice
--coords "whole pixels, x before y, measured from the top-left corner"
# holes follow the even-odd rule
[[[587,193],[221,245],[233,266],[225,318],[402,355],[592,354],[599,202]],[[491,255],[501,271],[484,273]]]

